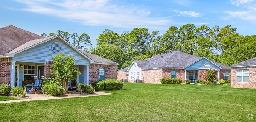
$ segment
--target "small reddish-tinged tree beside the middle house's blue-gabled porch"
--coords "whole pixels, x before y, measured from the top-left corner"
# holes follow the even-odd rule
[[[216,80],[218,80],[216,72],[215,69],[212,70],[212,68],[207,68],[203,71],[204,80],[207,81],[207,83],[216,83]]]

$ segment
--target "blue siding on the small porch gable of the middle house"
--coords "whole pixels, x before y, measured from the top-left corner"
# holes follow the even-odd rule
[[[201,61],[204,60],[205,61],[205,65],[201,64]],[[186,70],[198,70],[198,69],[215,69],[215,70],[220,70],[219,67],[217,67],[216,65],[212,64],[211,62],[207,61],[206,59],[201,59],[199,61],[197,61],[195,64],[190,65],[189,67],[186,68]]]

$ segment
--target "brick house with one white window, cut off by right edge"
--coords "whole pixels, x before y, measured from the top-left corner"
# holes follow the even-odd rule
[[[256,88],[256,58],[242,61],[231,67],[231,87]]]

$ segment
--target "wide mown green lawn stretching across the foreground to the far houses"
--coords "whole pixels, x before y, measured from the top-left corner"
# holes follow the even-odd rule
[[[12,122],[255,122],[256,89],[230,85],[135,84],[114,95],[0,103]],[[247,115],[253,114],[253,119]]]

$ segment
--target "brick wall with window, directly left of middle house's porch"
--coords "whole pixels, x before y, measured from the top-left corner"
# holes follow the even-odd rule
[[[184,69],[162,69],[162,78],[172,78],[171,72],[176,71],[176,78],[181,79],[182,83],[185,83],[185,71]]]

